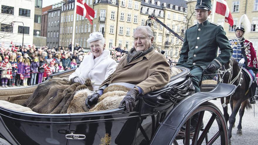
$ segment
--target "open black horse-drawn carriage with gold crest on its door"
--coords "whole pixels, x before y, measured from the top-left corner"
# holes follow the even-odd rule
[[[220,83],[209,92],[193,93],[189,69],[177,68],[181,69],[180,74],[173,76],[163,88],[140,96],[130,113],[125,108],[113,108],[72,114],[35,114],[0,107],[0,142],[12,145],[228,144],[223,114],[208,101],[228,96],[236,87]],[[47,81],[66,78],[73,71],[52,75]],[[36,87],[0,90],[0,100],[21,104]],[[200,113],[196,131],[191,132],[191,117],[196,113]],[[205,113],[210,114],[210,119],[201,128]],[[210,135],[214,121],[218,127]]]

